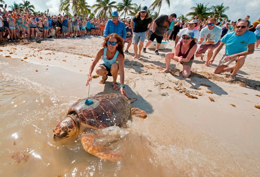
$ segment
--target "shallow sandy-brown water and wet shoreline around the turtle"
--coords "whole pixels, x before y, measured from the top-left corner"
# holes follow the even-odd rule
[[[133,118],[119,139],[124,159],[115,163],[88,154],[80,137],[55,143],[52,129],[67,107],[87,95],[86,75],[11,60],[0,60],[1,176],[255,174],[242,168],[217,139],[173,122],[167,113]]]

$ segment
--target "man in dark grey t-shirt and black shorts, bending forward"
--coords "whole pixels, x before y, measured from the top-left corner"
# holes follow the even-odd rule
[[[153,21],[153,29],[152,34],[148,38],[148,42],[146,43],[145,47],[143,48],[143,53],[145,53],[146,48],[153,42],[154,39],[157,41],[155,54],[159,55],[158,49],[162,43],[164,33],[169,29],[171,21],[173,21],[173,17],[176,16],[175,13],[171,15],[160,15]]]

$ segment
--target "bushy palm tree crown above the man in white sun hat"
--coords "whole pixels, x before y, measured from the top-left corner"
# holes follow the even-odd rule
[[[194,18],[195,16],[197,16],[200,19],[208,18],[208,16],[210,15],[209,13],[210,8],[207,7],[208,4],[209,3],[207,3],[204,6],[204,3],[199,3],[199,4],[196,3],[197,6],[190,8],[193,10],[193,12],[189,12],[186,15],[191,16],[192,18]]]

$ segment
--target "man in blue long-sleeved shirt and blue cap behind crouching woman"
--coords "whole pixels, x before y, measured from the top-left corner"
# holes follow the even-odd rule
[[[125,23],[118,20],[118,12],[112,12],[112,19],[107,21],[104,29],[104,37],[109,34],[116,33],[124,40],[126,39],[126,27]]]

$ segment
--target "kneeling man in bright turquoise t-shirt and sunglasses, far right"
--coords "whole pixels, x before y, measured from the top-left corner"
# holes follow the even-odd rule
[[[254,43],[256,42],[256,36],[253,32],[248,31],[249,21],[241,20],[237,23],[236,30],[234,32],[226,34],[221,39],[221,44],[218,46],[214,52],[209,64],[211,64],[216,55],[226,44],[226,52],[222,59],[219,61],[214,73],[219,74],[230,70],[231,75],[229,81],[235,81],[237,71],[244,65],[247,55],[254,53]],[[228,67],[233,61],[236,61],[236,65],[233,67]]]

